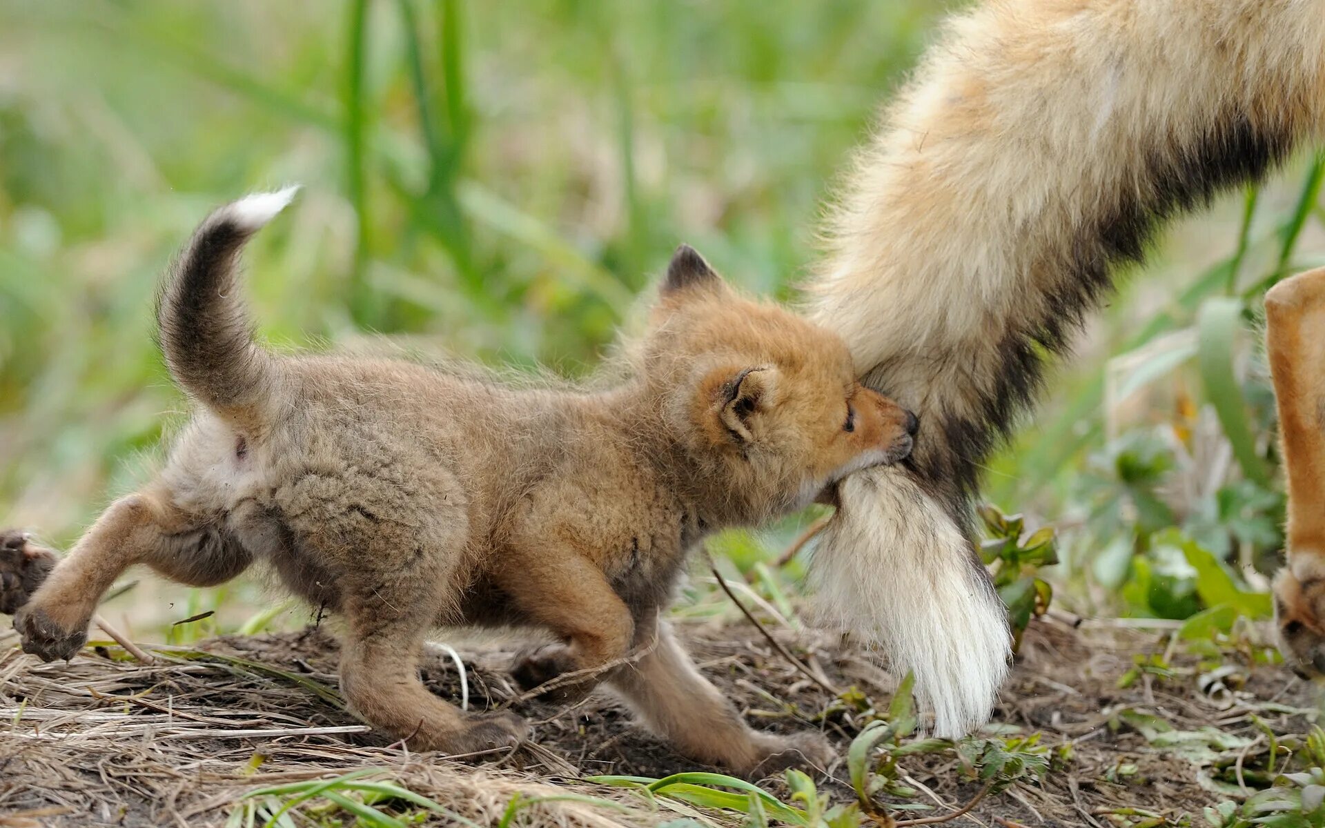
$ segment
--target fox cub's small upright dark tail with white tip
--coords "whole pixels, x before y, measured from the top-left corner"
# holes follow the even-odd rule
[[[253,342],[236,265],[244,242],[297,192],[288,187],[240,199],[208,216],[175,262],[156,309],[171,375],[200,403],[237,424],[254,417],[274,359]]]

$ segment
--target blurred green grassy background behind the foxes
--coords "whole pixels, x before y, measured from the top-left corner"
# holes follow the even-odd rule
[[[835,176],[958,5],[0,0],[0,525],[65,544],[150,474],[186,411],[154,291],[211,207],[305,184],[248,256],[280,346],[582,375],[680,241],[792,297]],[[1187,617],[1218,603],[1207,564],[1264,588],[1256,309],[1325,261],[1320,180],[1298,158],[1166,232],[990,464],[992,502],[1057,527],[1064,605]],[[802,568],[768,562],[806,519],[714,548],[783,608]],[[117,607],[135,632],[221,609],[203,632],[264,601],[148,580]]]

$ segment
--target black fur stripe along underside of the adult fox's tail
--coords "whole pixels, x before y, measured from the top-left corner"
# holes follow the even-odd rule
[[[1208,204],[1227,187],[1261,178],[1288,155],[1292,138],[1287,132],[1259,132],[1240,115],[1226,118],[1198,146],[1175,147],[1171,155],[1154,154],[1136,179],[1120,176],[1113,208],[1079,228],[1071,260],[1032,265],[1060,272],[1056,289],[1039,297],[1041,307],[1027,309],[1027,317],[1010,321],[1007,334],[995,346],[992,382],[973,378],[974,415],[926,412],[935,421],[926,433],[938,440],[917,444],[908,461],[922,485],[947,503],[958,523],[970,529],[970,502],[979,492],[980,464],[1011,436],[1015,416],[1030,407],[1043,386],[1045,360],[1069,350],[1085,314],[1113,287],[1114,270],[1140,262],[1165,220]],[[1149,183],[1149,188],[1138,192],[1128,180]],[[954,350],[937,359],[961,364],[970,358]],[[886,384],[886,367],[881,366],[878,374]]]

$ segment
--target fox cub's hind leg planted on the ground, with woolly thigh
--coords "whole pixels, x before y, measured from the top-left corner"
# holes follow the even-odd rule
[[[326,427],[325,431],[331,431]],[[517,745],[510,713],[473,715],[419,678],[425,633],[454,620],[469,525],[460,484],[387,441],[364,442],[341,473],[298,474],[276,493],[298,547],[335,584],[344,616],[341,689],[371,725],[416,750],[474,754]],[[335,468],[327,464],[327,468]],[[356,468],[372,468],[359,474]],[[288,567],[297,574],[295,563]],[[288,583],[290,575],[286,575]],[[295,580],[297,591],[307,584]]]

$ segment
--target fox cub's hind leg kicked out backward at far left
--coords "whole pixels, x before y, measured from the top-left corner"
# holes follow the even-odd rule
[[[135,563],[193,587],[224,583],[248,567],[249,552],[215,523],[172,505],[168,492],[122,497],[97,519],[17,609],[24,652],[70,658],[87,641],[102,594]]]

